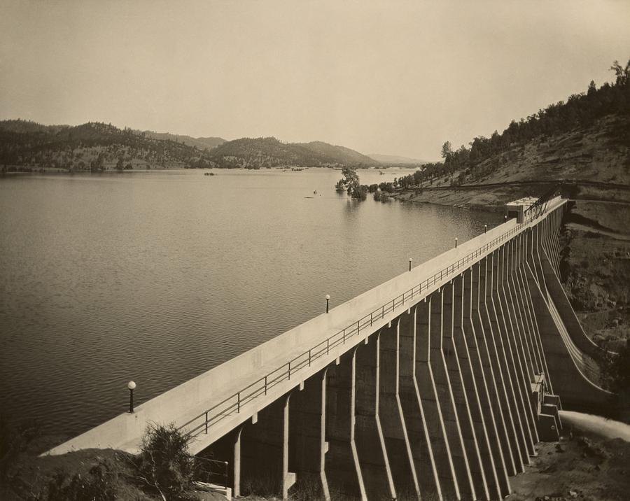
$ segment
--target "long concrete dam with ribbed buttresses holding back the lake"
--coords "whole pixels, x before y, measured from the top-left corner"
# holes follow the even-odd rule
[[[190,432],[235,496],[497,500],[559,409],[597,411],[607,353],[559,282],[560,197],[69,440],[139,451]]]

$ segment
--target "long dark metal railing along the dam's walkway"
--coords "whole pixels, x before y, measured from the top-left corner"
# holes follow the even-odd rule
[[[546,202],[544,206],[546,209]],[[530,223],[531,220],[533,219],[529,218],[525,221],[525,223]],[[453,264],[449,264],[449,266],[444,269],[437,271],[433,274],[433,276],[424,279],[419,284],[414,285],[411,289],[403,292],[401,295],[394,297],[390,301],[379,306],[379,308],[374,309],[361,318],[358,318],[358,320],[355,320],[344,329],[339,330],[335,334],[332,334],[332,336],[324,339],[315,346],[312,346],[309,350],[304,351],[291,360],[288,360],[288,362],[281,365],[281,367],[274,369],[272,372],[267,373],[260,379],[253,381],[253,383],[250,383],[248,386],[241,388],[241,390],[237,391],[237,393],[230,395],[224,400],[221,400],[221,402],[218,402],[218,404],[215,404],[213,407],[210,407],[186,423],[183,423],[183,425],[179,426],[179,429],[193,425],[193,428],[186,430],[191,436],[196,437],[202,433],[207,434],[209,428],[216,425],[216,423],[221,421],[223,418],[239,413],[241,411],[241,407],[260,396],[267,395],[269,390],[274,388],[274,386],[277,386],[283,381],[290,381],[292,376],[295,378],[297,372],[300,372],[306,367],[310,367],[315,360],[318,360],[323,356],[330,355],[330,351],[333,348],[346,344],[346,341],[358,336],[361,330],[365,330],[366,327],[371,327],[374,321],[385,318],[388,313],[392,313],[395,309],[404,306],[405,303],[409,304],[409,302],[413,301],[414,297],[417,300],[423,290],[426,291],[436,283],[444,280],[444,278],[454,274],[455,271],[468,267],[467,265],[470,264],[470,262],[476,260],[477,257],[481,255],[486,255],[491,248],[497,247],[498,244],[506,241],[512,237],[513,234],[520,232],[521,228],[522,225],[513,227],[511,230],[508,230],[495,239],[492,239],[487,244],[477,248],[465,257],[461,257],[461,259],[457,260]]]

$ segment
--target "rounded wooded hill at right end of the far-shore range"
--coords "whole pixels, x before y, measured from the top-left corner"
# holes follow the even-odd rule
[[[219,167],[370,167],[378,162],[370,157],[328,143],[283,143],[274,137],[243,138],[228,141],[209,152]]]

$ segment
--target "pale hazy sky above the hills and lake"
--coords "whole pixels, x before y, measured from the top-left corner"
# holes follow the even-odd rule
[[[611,81],[630,1],[0,0],[0,119],[442,143]]]

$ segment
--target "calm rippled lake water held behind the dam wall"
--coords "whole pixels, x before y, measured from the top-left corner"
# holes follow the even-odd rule
[[[332,169],[216,172],[0,179],[4,414],[75,435],[127,381],[144,402],[500,218],[353,202]]]

